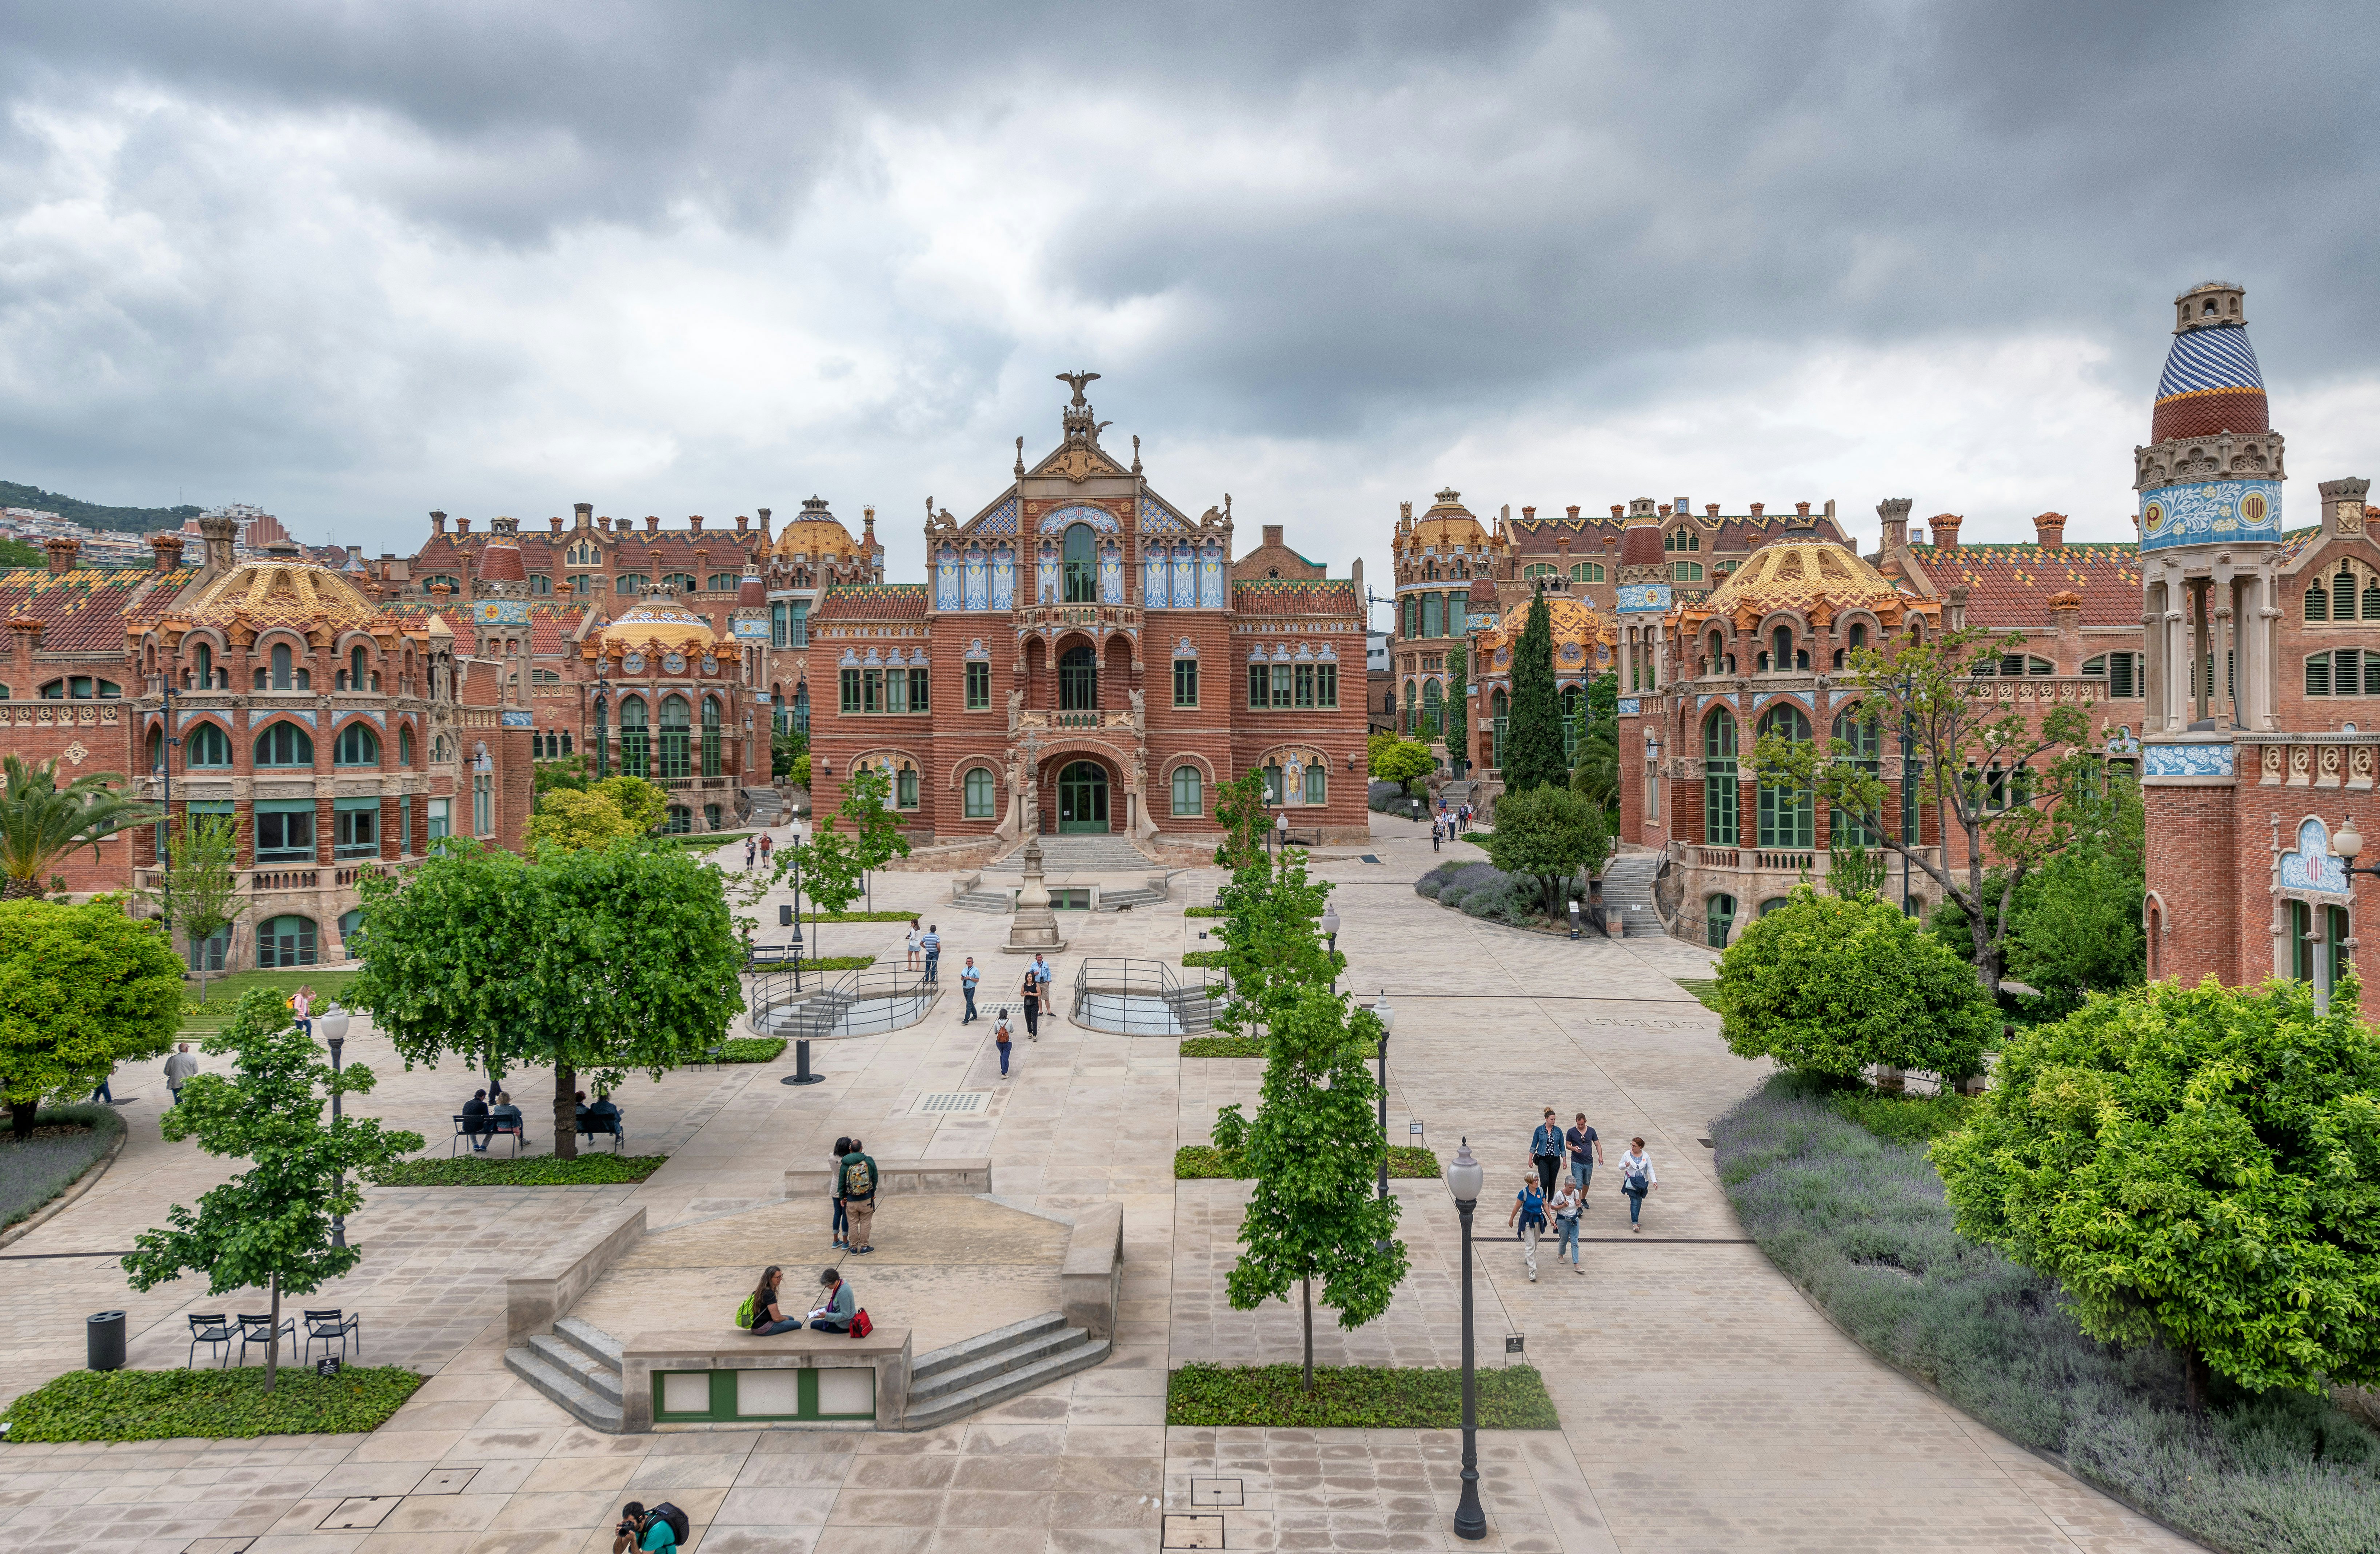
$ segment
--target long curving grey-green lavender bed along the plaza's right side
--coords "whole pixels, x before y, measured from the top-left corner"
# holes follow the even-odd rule
[[[1711,1123],[1737,1218],[1835,1326],[2209,1547],[2380,1547],[2380,1437],[2323,1397],[2221,1378],[2194,1416],[2178,1356],[2085,1337],[2054,1283],[1959,1237],[1923,1145],[1847,1116],[1914,1138],[1954,1118],[1956,1099],[1842,1102],[1780,1073]]]

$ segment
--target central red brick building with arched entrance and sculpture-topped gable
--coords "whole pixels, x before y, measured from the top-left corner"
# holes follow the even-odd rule
[[[1214,790],[1261,771],[1299,833],[1368,835],[1364,609],[1278,526],[1233,557],[1100,445],[1083,386],[1061,440],[964,524],[926,521],[926,583],[831,583],[809,614],[812,790],[890,776],[914,842],[1216,835]]]

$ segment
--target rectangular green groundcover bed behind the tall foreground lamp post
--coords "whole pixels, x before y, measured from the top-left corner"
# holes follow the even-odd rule
[[[1478,1371],[1483,1430],[1559,1430],[1554,1399],[1533,1366]],[[1307,1392],[1299,1366],[1192,1364],[1166,1378],[1166,1423],[1190,1428],[1285,1430],[1459,1430],[1461,1371],[1390,1371],[1314,1366]]]

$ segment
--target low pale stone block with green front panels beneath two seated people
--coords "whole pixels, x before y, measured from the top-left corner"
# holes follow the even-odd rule
[[[631,1435],[721,1425],[900,1430],[909,1411],[909,1328],[866,1337],[809,1328],[769,1337],[735,1328],[638,1333],[621,1342],[619,1395],[621,1430]]]

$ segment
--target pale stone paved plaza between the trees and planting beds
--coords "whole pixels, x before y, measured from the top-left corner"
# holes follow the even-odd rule
[[[1254,1102],[1254,1059],[1180,1059],[1176,1042],[1045,1021],[1002,1080],[990,1021],[962,1026],[962,957],[985,966],[985,1014],[1021,961],[997,952],[1007,919],[950,909],[950,876],[885,873],[878,907],[942,928],[933,1014],[909,1030],[826,1042],[826,1083],[781,1085],[769,1066],[693,1069],[621,1090],[631,1152],[666,1152],[626,1188],[378,1190],[350,1221],[355,1276],[302,1304],[364,1314],[364,1359],[431,1373],[369,1437],[0,1447],[0,1516],[24,1547],[252,1554],[609,1549],[624,1499],[671,1499],[702,1554],[1092,1554],[1228,1549],[2190,1549],[2059,1468],[1933,1399],[1835,1333],[1742,1240],[1711,1171],[1709,1118],[1759,1078],[1718,1021],[1676,983],[1709,954],[1671,940],[1568,942],[1488,926],[1416,897],[1428,831],[1376,816],[1364,861],[1316,861],[1338,883],[1340,950],[1366,997],[1397,1009],[1390,1133],[1452,1157],[1468,1135],[1488,1164],[1480,1204],[1483,1364],[1518,1335],[1561,1430],[1483,1435],[1492,1535],[1447,1530],[1459,1437],[1421,1430],[1169,1430],[1164,1380],[1195,1359],[1288,1361],[1297,1309],[1233,1311],[1242,1183],[1173,1183],[1173,1149],[1204,1142],[1214,1111]],[[1459,845],[1468,850],[1468,845]],[[743,850],[733,850],[740,861]],[[1173,878],[1173,900],[1128,914],[1066,914],[1059,988],[1083,954],[1176,959],[1211,921],[1219,871]],[[774,911],[764,916],[774,921]],[[826,926],[823,954],[900,957],[897,923]],[[1064,1007],[1064,997],[1059,1000]],[[357,1021],[350,1059],[378,1073],[362,1109],[447,1149],[483,1080],[459,1064],[405,1071]],[[209,1059],[217,1066],[219,1059]],[[516,1076],[538,1149],[550,1149],[550,1076]],[[540,1088],[543,1085],[543,1088]],[[131,1364],[178,1366],[188,1311],[257,1309],[183,1280],[131,1295],[112,1257],[193,1202],[226,1168],[157,1138],[157,1071],[119,1073],[131,1140],[64,1214],[0,1249],[0,1397],[83,1361],[83,1316],[131,1311]],[[916,1114],[921,1095],[988,1090],[971,1116]],[[1502,1230],[1542,1107],[1585,1111],[1611,1159],[1642,1133],[1661,1188],[1630,1235],[1597,1178],[1585,1273],[1540,1257],[1528,1280]],[[826,1204],[783,1204],[788,1166],[821,1166],[838,1133],[881,1161],[990,1157],[1002,1204],[888,1199],[876,1257],[850,1259],[859,1302],[916,1328],[923,1352],[1057,1307],[1050,1278],[1071,1214],[1121,1202],[1123,1307],[1116,1354],[1078,1376],[916,1435],[602,1435],[502,1364],[507,1271],[574,1223],[643,1204],[652,1235],[581,1314],[602,1323],[650,1304],[719,1326],[752,1273],[814,1276]],[[1395,1183],[1411,1276],[1359,1333],[1316,1314],[1316,1359],[1452,1366],[1459,1359],[1459,1235],[1442,1183]],[[614,1328],[616,1330],[616,1328]],[[347,1525],[336,1525],[345,1521]],[[252,1540],[252,1542],[248,1542]]]

